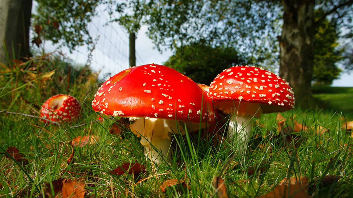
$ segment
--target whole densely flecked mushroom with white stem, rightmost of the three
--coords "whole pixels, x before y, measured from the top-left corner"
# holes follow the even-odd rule
[[[288,83],[257,67],[235,66],[223,70],[211,82],[208,95],[217,108],[232,114],[227,136],[233,146],[239,147],[240,155],[247,147],[253,117],[294,107],[294,95]]]

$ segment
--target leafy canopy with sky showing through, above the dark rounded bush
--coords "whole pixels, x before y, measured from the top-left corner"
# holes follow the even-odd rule
[[[157,0],[146,9],[147,34],[158,49],[177,49],[203,41],[236,48],[258,64],[277,58],[273,56],[281,11],[277,2]]]

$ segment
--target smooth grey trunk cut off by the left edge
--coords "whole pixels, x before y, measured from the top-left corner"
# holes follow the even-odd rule
[[[29,28],[32,0],[0,0],[0,62],[31,55]]]

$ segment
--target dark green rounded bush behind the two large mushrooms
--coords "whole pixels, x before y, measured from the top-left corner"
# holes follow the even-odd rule
[[[177,48],[175,54],[164,64],[197,83],[209,85],[223,69],[247,63],[234,48],[192,44]]]

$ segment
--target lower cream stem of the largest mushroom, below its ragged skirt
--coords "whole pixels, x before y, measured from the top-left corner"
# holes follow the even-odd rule
[[[149,138],[142,137],[140,142],[145,147],[145,155],[148,156],[148,159],[155,163],[160,163],[163,161],[162,159],[170,161],[170,144],[172,143],[170,138],[152,137],[149,140]]]

